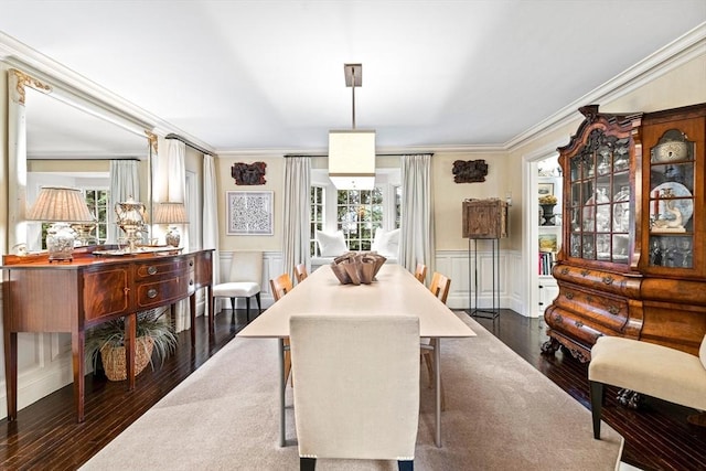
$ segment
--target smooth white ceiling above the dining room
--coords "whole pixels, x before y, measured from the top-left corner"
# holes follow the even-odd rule
[[[216,153],[315,152],[352,125],[344,63],[378,150],[505,146],[704,22],[704,0],[3,0],[0,32]],[[38,114],[45,148],[79,139]]]

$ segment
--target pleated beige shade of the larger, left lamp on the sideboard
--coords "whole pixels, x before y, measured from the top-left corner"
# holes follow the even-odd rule
[[[42,186],[26,218],[46,223],[87,223],[95,221],[81,190],[65,186]]]

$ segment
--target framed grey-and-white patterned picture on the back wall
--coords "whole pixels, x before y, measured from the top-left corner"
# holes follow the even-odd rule
[[[227,235],[274,235],[271,191],[226,192]]]

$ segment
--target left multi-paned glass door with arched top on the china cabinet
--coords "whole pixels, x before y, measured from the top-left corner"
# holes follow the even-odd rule
[[[630,144],[630,138],[595,129],[569,160],[570,257],[628,265],[634,221]]]

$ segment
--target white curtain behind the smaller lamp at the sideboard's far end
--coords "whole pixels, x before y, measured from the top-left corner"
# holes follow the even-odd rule
[[[167,139],[167,201],[174,203],[186,203],[186,167],[184,156],[186,144],[176,139]],[[189,215],[191,217],[192,215]],[[180,228],[181,246],[189,247],[189,232],[184,227]],[[181,332],[191,327],[189,315],[189,300],[176,303],[174,309],[174,329]]]

